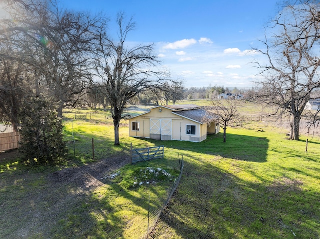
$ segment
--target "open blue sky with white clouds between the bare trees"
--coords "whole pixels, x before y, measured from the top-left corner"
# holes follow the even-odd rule
[[[133,16],[134,43],[154,43],[155,54],[185,87],[251,87],[258,79],[251,46],[263,39],[264,25],[280,9],[278,0],[60,0],[77,11],[119,11]],[[254,57],[259,57],[255,55]]]

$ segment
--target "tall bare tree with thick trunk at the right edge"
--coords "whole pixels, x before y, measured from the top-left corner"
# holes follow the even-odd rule
[[[266,28],[266,57],[256,62],[265,76],[261,99],[277,107],[276,114],[289,115],[290,139],[299,140],[300,120],[311,93],[320,87],[318,66],[320,4],[299,0],[286,6]]]

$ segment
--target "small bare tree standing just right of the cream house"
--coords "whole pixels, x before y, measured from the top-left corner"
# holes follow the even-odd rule
[[[208,114],[217,115],[217,121],[223,129],[223,142],[226,142],[226,128],[242,125],[242,116],[238,112],[241,101],[219,100],[212,101],[212,106],[206,106]]]

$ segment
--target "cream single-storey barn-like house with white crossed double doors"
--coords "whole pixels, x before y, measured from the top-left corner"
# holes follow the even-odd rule
[[[129,118],[129,136],[201,142],[220,131],[217,116],[194,104],[160,105]]]

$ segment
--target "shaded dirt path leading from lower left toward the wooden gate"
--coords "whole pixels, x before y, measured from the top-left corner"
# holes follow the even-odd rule
[[[54,225],[102,186],[101,178],[128,163],[129,156],[120,155],[50,174],[25,172],[2,179],[0,238],[52,238]]]

